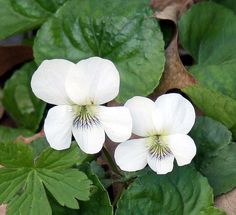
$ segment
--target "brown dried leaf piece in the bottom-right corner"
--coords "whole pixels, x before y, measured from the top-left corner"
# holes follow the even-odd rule
[[[236,188],[215,199],[215,206],[224,210],[228,215],[236,214]]]

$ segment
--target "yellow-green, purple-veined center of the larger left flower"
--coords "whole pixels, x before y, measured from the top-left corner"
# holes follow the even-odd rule
[[[74,127],[87,129],[100,123],[99,119],[96,117],[96,106],[74,106],[73,111],[75,113],[75,118],[73,121]]]

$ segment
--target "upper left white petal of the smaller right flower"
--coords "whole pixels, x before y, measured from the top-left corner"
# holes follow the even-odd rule
[[[152,114],[155,111],[155,103],[146,97],[135,96],[125,103],[133,120],[133,133],[146,137],[155,133]]]

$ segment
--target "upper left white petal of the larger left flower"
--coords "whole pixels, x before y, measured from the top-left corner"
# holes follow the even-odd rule
[[[43,61],[31,79],[34,94],[50,104],[68,104],[65,79],[74,66],[74,63],[62,59]]]

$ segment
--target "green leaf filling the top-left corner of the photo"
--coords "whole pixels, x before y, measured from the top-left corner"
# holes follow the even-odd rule
[[[66,0],[0,0],[0,39],[38,27]]]

